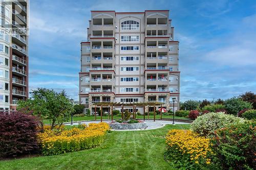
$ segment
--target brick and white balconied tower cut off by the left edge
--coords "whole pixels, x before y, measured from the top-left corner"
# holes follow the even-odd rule
[[[1,0],[0,111],[28,98],[28,0]]]

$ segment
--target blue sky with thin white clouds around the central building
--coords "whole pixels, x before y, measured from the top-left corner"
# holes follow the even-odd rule
[[[180,41],[181,101],[256,92],[255,1],[30,1],[29,88],[78,99],[80,42],[91,10],[170,10]]]

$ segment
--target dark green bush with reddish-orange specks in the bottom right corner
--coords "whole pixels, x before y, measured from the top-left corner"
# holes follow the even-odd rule
[[[219,169],[256,169],[256,123],[245,122],[217,130],[211,140]]]

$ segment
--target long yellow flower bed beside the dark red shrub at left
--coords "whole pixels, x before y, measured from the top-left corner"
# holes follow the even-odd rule
[[[42,154],[57,155],[97,147],[102,143],[108,130],[110,127],[106,123],[89,124],[85,129],[46,130],[38,134],[38,140],[41,143]]]

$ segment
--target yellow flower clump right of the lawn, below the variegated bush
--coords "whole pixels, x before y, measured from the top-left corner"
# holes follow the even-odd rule
[[[170,130],[166,136],[166,155],[170,159],[185,159],[190,163],[210,163],[210,139],[190,130]]]

